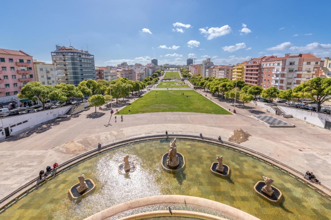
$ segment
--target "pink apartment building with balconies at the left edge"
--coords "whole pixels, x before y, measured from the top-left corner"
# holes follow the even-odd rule
[[[22,50],[0,49],[0,108],[15,108],[27,102],[18,99],[17,94],[25,84],[35,81],[32,62],[32,56]]]

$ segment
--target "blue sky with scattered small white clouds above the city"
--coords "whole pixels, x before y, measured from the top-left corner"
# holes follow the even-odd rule
[[[252,2],[252,1],[251,1]],[[0,48],[51,61],[55,45],[88,49],[97,66],[235,64],[266,54],[331,55],[330,26],[311,1],[2,1]],[[317,8],[316,8],[317,9]]]

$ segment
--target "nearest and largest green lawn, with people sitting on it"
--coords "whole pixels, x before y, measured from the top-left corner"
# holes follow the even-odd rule
[[[194,90],[152,90],[120,110],[119,114],[166,111],[231,114]]]

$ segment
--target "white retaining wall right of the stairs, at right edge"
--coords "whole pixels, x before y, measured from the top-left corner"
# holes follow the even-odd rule
[[[291,114],[294,118],[324,128],[325,121],[331,122],[331,115],[318,113],[315,111],[308,111],[302,109],[291,108],[287,106],[278,106],[285,114]]]

